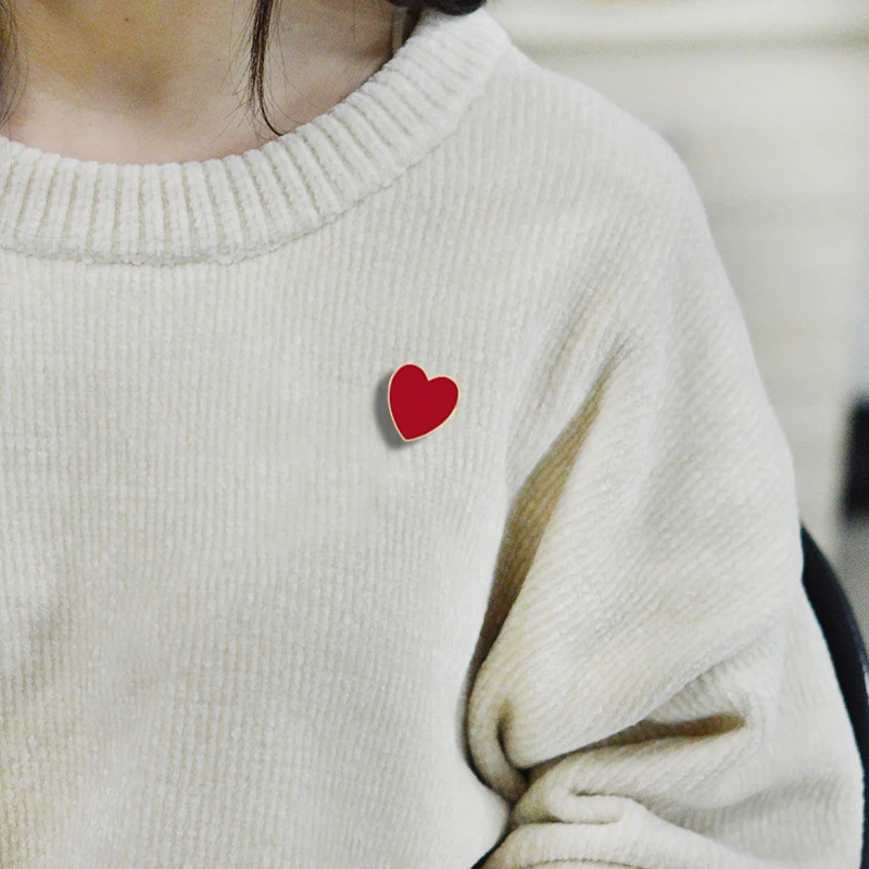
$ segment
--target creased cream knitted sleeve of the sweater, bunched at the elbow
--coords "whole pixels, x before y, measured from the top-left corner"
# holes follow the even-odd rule
[[[858,869],[862,769],[792,455],[693,181],[659,168],[618,298],[575,305],[517,427],[467,713],[511,814],[478,866]]]

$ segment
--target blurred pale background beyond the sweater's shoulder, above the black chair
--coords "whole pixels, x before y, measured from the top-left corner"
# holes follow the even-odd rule
[[[688,166],[791,444],[803,522],[869,639],[869,0],[487,9]]]

